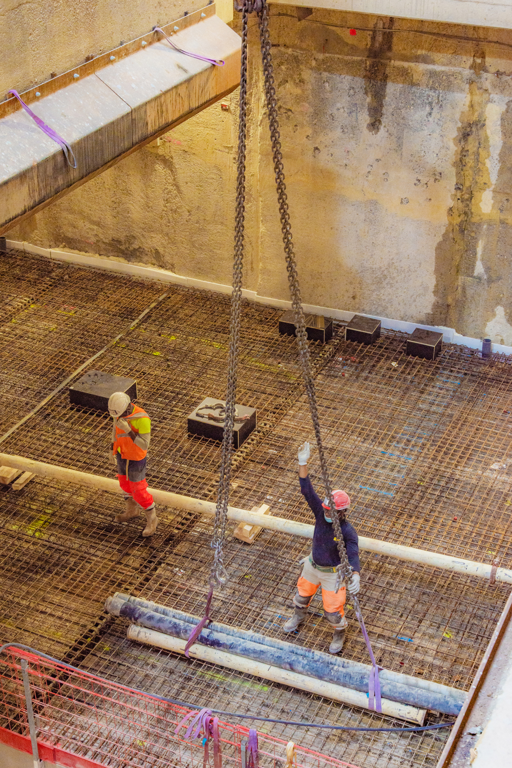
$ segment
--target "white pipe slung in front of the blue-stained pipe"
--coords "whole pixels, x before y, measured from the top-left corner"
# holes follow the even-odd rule
[[[164,650],[172,650],[175,654],[183,654],[187,641],[180,640],[177,637],[171,637],[169,634],[157,632],[146,627],[137,627],[136,624],[130,624],[127,631],[128,640],[136,640],[139,643],[154,645]],[[243,656],[228,654],[224,650],[216,650],[206,645],[195,644],[190,648],[190,657],[208,661],[210,664],[218,664],[220,667],[227,667],[231,670],[237,670],[244,674],[253,674],[256,677],[263,677],[264,680],[272,680],[273,683],[289,685],[299,690],[307,690],[310,694],[323,696],[333,701],[340,701],[344,704],[350,704],[353,707],[362,707],[368,710],[368,696],[358,690],[345,688],[333,683],[325,683],[324,680],[317,680],[315,677],[307,677],[298,672],[289,672],[280,667],[272,667],[268,664],[262,664],[261,661],[253,661]],[[420,710],[418,707],[411,707],[410,704],[401,704],[397,701],[382,699],[382,713],[388,717],[399,717],[401,720],[410,720],[412,723],[423,725],[427,710]]]

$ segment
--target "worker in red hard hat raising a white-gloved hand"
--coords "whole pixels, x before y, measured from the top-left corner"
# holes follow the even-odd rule
[[[299,482],[302,494],[306,497],[309,508],[315,515],[315,531],[313,532],[312,552],[302,561],[302,574],[297,582],[297,592],[293,598],[295,612],[283,625],[285,632],[292,632],[305,621],[308,614],[308,606],[313,595],[322,587],[322,602],[324,616],[332,624],[334,634],[329,651],[339,654],[345,640],[345,619],[343,607],[345,605],[346,588],[342,583],[338,592],[335,592],[336,566],[339,565],[339,551],[332,526],[332,515],[339,514],[342,526],[343,541],[347,551],[348,562],[352,565],[352,578],[348,581],[348,592],[357,594],[359,591],[359,547],[358,535],[355,528],[345,519],[350,507],[350,498],[345,491],[333,491],[332,498],[335,503],[335,512],[329,508],[329,498],[324,502],[315,492],[311,480],[308,477],[309,442],[305,442],[299,448]]]

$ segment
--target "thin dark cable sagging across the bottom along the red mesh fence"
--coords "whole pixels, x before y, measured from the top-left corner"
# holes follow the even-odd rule
[[[68,670],[73,670],[74,672],[78,672],[79,674],[85,674],[88,675],[88,677],[93,677],[96,680],[101,680],[102,683],[106,683],[107,685],[122,685],[122,687],[126,688],[127,690],[131,690],[134,692],[134,694],[143,694],[144,696],[149,696],[152,699],[155,699],[157,701],[164,701],[167,704],[177,704],[178,707],[187,707],[187,709],[190,710],[202,710],[205,707],[203,707],[203,704],[191,704],[188,701],[178,701],[177,699],[167,699],[164,696],[158,696],[157,694],[148,694],[147,690],[140,690],[140,688],[132,688],[129,685],[124,685],[122,683],[114,683],[113,680],[107,680],[105,677],[99,677],[98,675],[93,674],[92,672],[88,672],[86,670],[81,670],[80,667],[73,667],[72,664],[66,664],[65,661],[61,661],[59,659],[55,659],[53,656],[48,656],[48,654],[43,654],[41,650],[35,650],[35,648],[31,648],[29,645],[23,645],[21,643],[5,643],[4,645],[0,646],[0,654],[2,654],[2,651],[4,651],[6,648],[21,648],[21,650],[28,650],[31,654],[35,654],[36,656],[40,656],[42,659],[48,659],[48,661],[53,661],[55,664],[60,664],[61,667],[65,667]],[[207,707],[210,709],[210,707]],[[322,723],[301,723],[297,720],[273,720],[270,717],[259,717],[257,715],[246,715],[242,714],[240,712],[226,712],[224,710],[210,710],[211,712],[218,714],[218,715],[227,715],[228,717],[239,717],[243,720],[262,720],[263,723],[276,723],[278,725],[296,725],[296,726],[302,726],[307,728],[328,728],[329,730],[364,730],[364,731],[391,731],[395,733],[410,733],[411,731],[423,731],[423,730],[435,730],[438,728],[451,728],[451,726],[454,724],[454,722],[451,723],[436,723],[435,725],[424,725],[424,726],[411,726],[411,727],[405,727],[405,728],[367,728],[367,727],[357,727],[357,726],[350,726],[350,725],[324,725]]]

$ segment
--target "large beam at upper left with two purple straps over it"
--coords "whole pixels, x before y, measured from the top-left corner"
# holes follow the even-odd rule
[[[77,167],[17,99],[0,104],[0,233],[237,87],[241,40],[215,5],[163,29],[177,48],[225,64],[184,55],[151,31],[21,94]]]

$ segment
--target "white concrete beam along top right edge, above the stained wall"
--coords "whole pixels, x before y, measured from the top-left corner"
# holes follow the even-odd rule
[[[272,0],[273,5],[329,8],[428,22],[512,28],[512,0]]]

